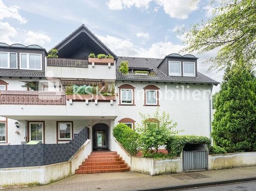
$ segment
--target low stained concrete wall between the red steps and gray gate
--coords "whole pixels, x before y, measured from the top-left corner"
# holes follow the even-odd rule
[[[181,157],[165,159],[132,157],[131,170],[151,176],[181,173]]]

